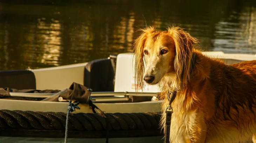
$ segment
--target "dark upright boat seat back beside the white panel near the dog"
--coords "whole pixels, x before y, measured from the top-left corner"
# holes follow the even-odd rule
[[[84,86],[93,92],[114,91],[115,57],[88,62],[85,66]]]

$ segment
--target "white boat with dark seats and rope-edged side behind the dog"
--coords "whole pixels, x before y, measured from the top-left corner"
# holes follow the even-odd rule
[[[256,55],[253,54],[227,54],[223,52],[203,53],[224,60],[227,64],[256,60]],[[159,89],[157,89],[157,86],[148,86],[145,84],[146,86],[143,93],[135,93],[134,63],[132,57],[133,53],[122,53],[117,56],[110,55],[107,59],[99,59],[67,66],[0,71],[0,87],[2,87],[0,89],[1,143],[63,142],[63,137],[65,136],[65,130],[63,129],[65,128],[64,124],[62,124],[63,127],[60,127],[61,129],[56,129],[57,127],[51,125],[54,121],[51,121],[51,123],[49,123],[51,125],[51,127],[49,127],[50,129],[46,129],[46,127],[35,129],[33,125],[29,125],[34,121],[31,121],[30,116],[25,119],[23,112],[31,111],[33,114],[47,113],[47,115],[43,114],[45,117],[48,117],[48,113],[51,117],[55,115],[54,113],[62,113],[61,115],[64,116],[64,114],[67,114],[68,101],[71,100],[70,93],[74,91],[80,92],[80,94],[85,94],[82,92],[90,93],[89,90],[77,90],[74,87],[92,89],[92,93],[89,94],[89,97],[87,96],[89,100],[92,101],[90,103],[93,103],[93,105],[105,111],[106,114],[113,116],[120,115],[120,117],[124,115],[130,116],[132,114],[134,114],[134,116],[143,116],[139,117],[141,120],[139,122],[144,124],[144,126],[141,128],[129,127],[123,129],[124,127],[119,127],[119,129],[115,129],[115,123],[113,123],[112,130],[109,130],[108,133],[104,129],[105,126],[100,127],[101,130],[96,129],[96,127],[92,130],[88,130],[87,127],[81,127],[81,129],[78,130],[77,128],[79,127],[74,127],[73,130],[70,129],[68,134],[69,143],[105,142],[106,134],[108,134],[108,141],[111,143],[162,143],[163,132],[157,129],[155,124],[153,124],[153,122],[159,121],[160,115],[146,114],[159,113],[161,111],[160,106],[162,101],[157,99]],[[88,102],[80,97],[72,98],[72,101],[79,100],[82,101],[78,105],[80,109],[76,109],[72,114],[95,114]],[[18,117],[20,117],[20,119]],[[120,121],[117,121],[119,120],[117,117],[115,118],[115,122],[119,122],[120,124],[124,121],[128,122],[125,119],[126,118],[121,118]],[[13,122],[11,120],[13,120]],[[26,124],[30,128],[26,129],[26,125],[22,125],[21,120],[26,120]],[[61,120],[61,118],[59,117],[58,120]],[[95,119],[90,120],[93,121]],[[97,118],[97,120],[101,119]],[[147,122],[144,122],[144,120],[147,120]],[[19,125],[15,126],[14,122],[19,123]],[[70,122],[75,123],[78,121]],[[86,126],[85,122],[81,120],[79,120],[79,124]],[[136,123],[133,124],[138,123],[136,121]],[[95,123],[93,125],[97,124]],[[54,127],[52,128],[52,126]]]

